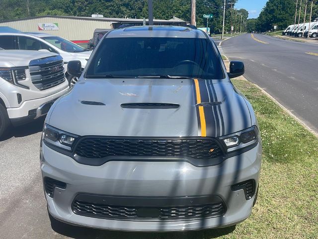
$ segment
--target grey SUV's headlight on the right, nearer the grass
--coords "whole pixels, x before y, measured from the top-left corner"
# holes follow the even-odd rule
[[[256,126],[252,126],[242,131],[222,136],[219,139],[225,144],[227,152],[232,152],[257,143],[258,129]]]

